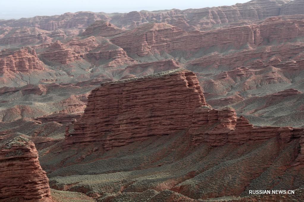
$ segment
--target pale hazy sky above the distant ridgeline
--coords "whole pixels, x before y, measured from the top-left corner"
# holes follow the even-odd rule
[[[0,0],[0,19],[59,15],[66,12],[130,12],[234,5],[250,0]]]

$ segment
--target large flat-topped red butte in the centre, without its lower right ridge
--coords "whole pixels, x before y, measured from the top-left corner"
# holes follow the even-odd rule
[[[109,150],[171,134],[188,128],[201,106],[207,104],[199,82],[185,69],[106,82],[89,95],[85,113],[67,134],[65,145],[100,141]]]

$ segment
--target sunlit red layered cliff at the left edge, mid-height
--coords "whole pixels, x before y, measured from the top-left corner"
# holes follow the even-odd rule
[[[22,48],[17,51],[3,50],[0,53],[0,72],[8,71],[26,73],[33,70],[43,70],[43,63],[39,60],[35,50]]]

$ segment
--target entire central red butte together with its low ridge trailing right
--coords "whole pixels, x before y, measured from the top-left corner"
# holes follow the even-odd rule
[[[74,132],[66,134],[65,145],[100,141],[109,150],[183,129],[194,144],[212,146],[272,137],[289,142],[303,134],[303,128],[256,128],[236,115],[230,107],[212,109],[195,74],[175,69],[101,84],[89,95],[85,113],[74,124]]]

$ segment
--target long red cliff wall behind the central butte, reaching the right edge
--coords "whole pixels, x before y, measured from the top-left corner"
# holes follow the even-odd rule
[[[277,32],[274,32],[276,30]],[[227,35],[229,37],[227,38]],[[303,20],[267,18],[261,24],[235,26],[211,31],[185,31],[165,23],[150,23],[111,39],[127,52],[145,56],[160,51],[197,51],[212,46],[244,44],[257,46],[274,40],[284,42],[304,35]]]

